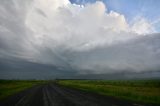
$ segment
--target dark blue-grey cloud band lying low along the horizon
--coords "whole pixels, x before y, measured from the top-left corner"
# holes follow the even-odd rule
[[[0,58],[1,79],[143,79],[159,78],[159,71],[110,74],[79,74],[75,70],[61,69],[53,65],[28,62],[17,58]]]

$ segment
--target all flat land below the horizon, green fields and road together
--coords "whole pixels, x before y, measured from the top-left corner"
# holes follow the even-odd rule
[[[159,81],[0,81],[0,106],[159,106]]]

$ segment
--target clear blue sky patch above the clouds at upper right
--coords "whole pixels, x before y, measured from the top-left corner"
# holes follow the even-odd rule
[[[70,0],[71,3],[86,5],[97,0]],[[123,14],[128,22],[137,17],[145,17],[160,32],[159,0],[98,0],[102,1],[109,11]]]

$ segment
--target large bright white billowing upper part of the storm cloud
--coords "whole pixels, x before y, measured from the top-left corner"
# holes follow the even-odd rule
[[[72,49],[79,49],[78,46],[83,44],[96,43],[96,46],[99,43],[113,42],[120,38],[119,32],[128,32],[128,24],[124,16],[113,11],[106,13],[102,2],[88,4],[84,8],[72,4],[60,5],[56,10],[45,3],[37,5],[35,1],[34,4],[25,21],[38,39],[36,40],[38,43],[42,43],[47,38],[52,39],[56,46],[66,45]],[[51,7],[55,7],[54,4]]]

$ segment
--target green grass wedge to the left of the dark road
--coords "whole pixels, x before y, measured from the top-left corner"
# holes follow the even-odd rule
[[[0,80],[0,100],[17,92],[30,88],[45,81],[36,80]]]

